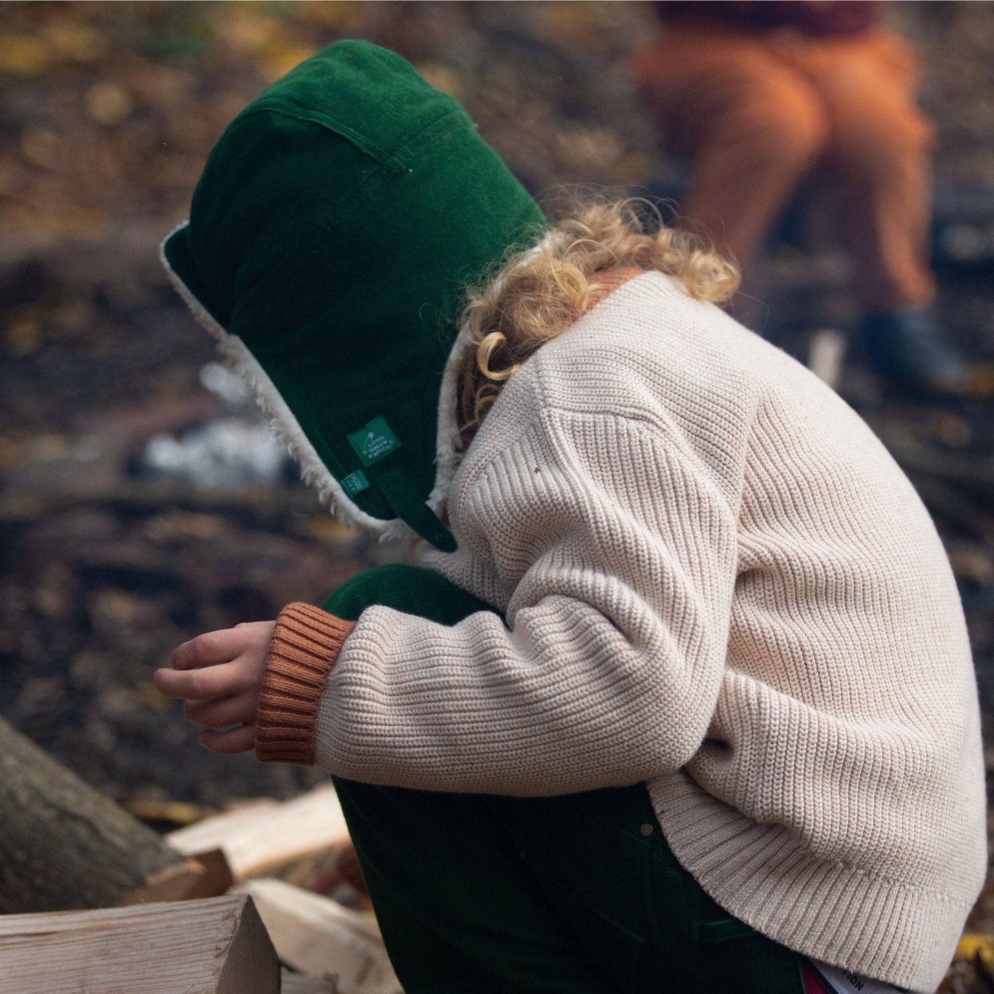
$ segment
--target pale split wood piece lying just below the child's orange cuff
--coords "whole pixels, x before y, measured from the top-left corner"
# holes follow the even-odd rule
[[[335,788],[323,783],[292,801],[261,802],[177,829],[166,841],[184,856],[220,849],[236,881],[342,845],[349,830]]]

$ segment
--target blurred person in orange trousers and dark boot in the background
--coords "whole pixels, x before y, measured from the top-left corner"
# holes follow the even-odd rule
[[[862,0],[660,2],[635,75],[667,139],[694,157],[682,223],[745,268],[812,169],[827,166],[853,260],[859,338],[915,393],[976,396],[947,342],[927,259],[932,126],[917,59]]]

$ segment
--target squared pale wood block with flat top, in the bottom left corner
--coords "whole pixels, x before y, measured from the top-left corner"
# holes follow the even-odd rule
[[[0,994],[279,994],[248,895],[0,916]]]

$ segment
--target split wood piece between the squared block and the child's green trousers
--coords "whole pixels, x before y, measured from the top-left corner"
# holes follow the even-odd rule
[[[238,890],[255,901],[287,966],[333,978],[339,994],[401,994],[375,921],[279,880],[249,880]]]

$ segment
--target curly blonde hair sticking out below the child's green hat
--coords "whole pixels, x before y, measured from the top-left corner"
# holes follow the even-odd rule
[[[463,448],[525,360],[599,299],[598,274],[658,269],[698,300],[724,303],[735,293],[740,276],[732,262],[696,236],[662,224],[658,213],[658,230],[647,233],[638,210],[644,203],[580,207],[541,245],[513,255],[495,279],[470,292],[462,320],[469,346],[457,370]]]

